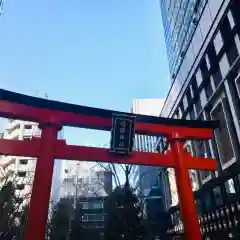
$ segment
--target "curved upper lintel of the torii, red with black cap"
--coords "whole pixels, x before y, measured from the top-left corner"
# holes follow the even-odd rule
[[[52,101],[0,89],[0,116],[39,123],[110,131],[112,114],[130,113]],[[182,139],[211,139],[216,121],[190,121],[134,114],[136,133]]]

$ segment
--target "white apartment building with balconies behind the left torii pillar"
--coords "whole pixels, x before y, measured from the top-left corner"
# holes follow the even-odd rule
[[[38,123],[26,122],[20,120],[9,120],[3,133],[5,139],[15,139],[28,141],[32,137],[40,137],[41,130]],[[59,137],[62,132],[59,133]],[[57,201],[57,189],[62,175],[62,161],[55,160],[51,201]],[[34,180],[34,172],[36,167],[36,159],[30,157],[17,156],[1,156],[0,159],[0,181],[1,184],[5,180],[13,180],[16,187],[16,195],[22,198],[23,204],[29,202],[31,197],[32,183]]]

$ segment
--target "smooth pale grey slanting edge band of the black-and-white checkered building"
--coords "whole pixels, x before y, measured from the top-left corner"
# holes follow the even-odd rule
[[[193,74],[196,72],[199,60],[205,54],[207,46],[218,28],[219,22],[230,1],[231,0],[207,1],[202,17],[191,38],[191,42],[187,44],[188,47],[184,57],[182,57],[181,66],[178,72],[175,73],[175,78],[162,109],[162,116],[171,116],[178,106],[179,100],[186,90]],[[164,14],[162,16],[164,17]]]

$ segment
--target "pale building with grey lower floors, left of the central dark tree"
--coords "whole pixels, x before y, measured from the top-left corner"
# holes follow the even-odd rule
[[[60,198],[72,198],[80,204],[82,223],[96,239],[103,239],[105,199],[112,192],[112,173],[86,162],[68,164],[65,179],[60,186]],[[90,233],[89,233],[90,234]]]

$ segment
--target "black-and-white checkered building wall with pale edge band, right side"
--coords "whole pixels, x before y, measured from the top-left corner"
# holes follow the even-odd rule
[[[217,159],[216,172],[193,172],[195,190],[239,161],[239,7],[238,0],[206,1],[161,112],[176,119],[220,120],[213,140],[186,142],[192,155]],[[233,182],[226,182],[227,191],[234,191]]]

